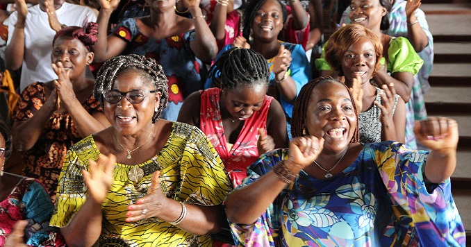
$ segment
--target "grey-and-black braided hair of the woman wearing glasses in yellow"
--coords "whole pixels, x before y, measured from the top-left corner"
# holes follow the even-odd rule
[[[160,105],[158,110],[154,112],[154,117],[152,117],[152,122],[156,123],[163,109],[168,105],[168,80],[162,66],[158,65],[153,58],[129,54],[106,60],[98,71],[97,80],[95,80],[93,88],[93,96],[99,101],[101,107],[104,108],[103,94],[113,89],[117,76],[130,70],[138,71],[149,82],[154,82],[155,90],[161,93]]]

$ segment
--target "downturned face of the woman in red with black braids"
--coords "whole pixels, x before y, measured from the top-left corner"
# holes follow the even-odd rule
[[[265,99],[267,87],[261,83],[246,85],[222,92],[221,103],[224,104],[231,119],[245,120],[260,110]]]

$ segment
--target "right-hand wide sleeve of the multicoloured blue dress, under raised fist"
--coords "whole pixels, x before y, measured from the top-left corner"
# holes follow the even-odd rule
[[[427,151],[412,151],[386,142],[374,151],[379,173],[390,196],[398,225],[415,228],[422,246],[464,246],[465,233],[450,181],[431,191],[424,183]]]

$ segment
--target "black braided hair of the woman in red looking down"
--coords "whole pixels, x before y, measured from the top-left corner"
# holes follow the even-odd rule
[[[209,71],[217,87],[233,90],[260,83],[268,87],[270,69],[267,60],[252,49],[231,48],[221,54]]]

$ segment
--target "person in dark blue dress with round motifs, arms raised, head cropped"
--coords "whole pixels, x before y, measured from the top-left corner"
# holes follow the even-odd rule
[[[151,14],[129,18],[117,24],[107,36],[110,15],[119,0],[101,0],[95,61],[102,62],[120,54],[155,58],[169,81],[169,106],[163,119],[175,121],[183,99],[203,89],[201,71],[217,54],[213,33],[201,14],[199,0],[183,0],[192,18],[176,15],[175,0],[147,0]]]

